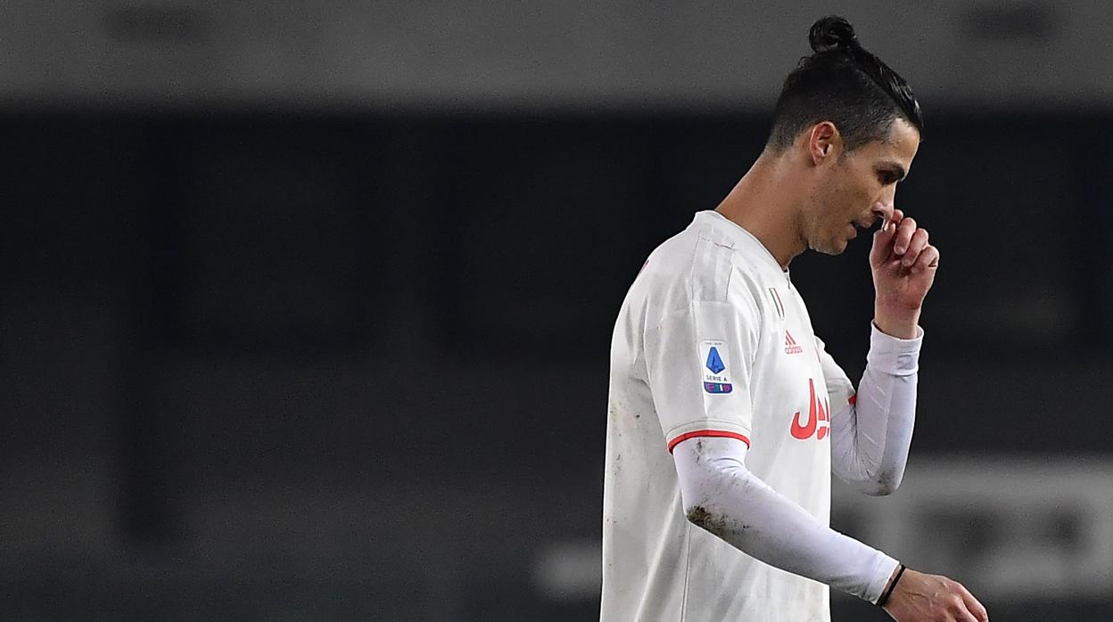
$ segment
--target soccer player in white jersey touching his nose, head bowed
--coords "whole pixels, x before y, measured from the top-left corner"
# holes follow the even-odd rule
[[[938,267],[894,207],[923,119],[846,20],[810,31],[765,150],[634,279],[611,344],[603,622],[805,622],[828,586],[900,622],[988,620],[965,588],[829,526],[830,475],[871,495],[904,474],[920,306]],[[812,332],[788,265],[880,227],[857,391]]]

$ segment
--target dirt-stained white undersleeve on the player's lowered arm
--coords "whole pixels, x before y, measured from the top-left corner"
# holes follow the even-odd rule
[[[897,562],[820,523],[750,473],[737,438],[672,451],[689,520],[747,554],[875,602]]]

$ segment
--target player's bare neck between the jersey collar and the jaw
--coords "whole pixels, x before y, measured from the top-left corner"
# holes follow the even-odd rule
[[[758,238],[781,268],[808,248],[800,234],[801,188],[791,181],[790,158],[790,152],[764,151],[715,208]]]

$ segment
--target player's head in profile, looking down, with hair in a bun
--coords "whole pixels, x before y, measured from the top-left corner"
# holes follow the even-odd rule
[[[815,53],[785,79],[766,149],[807,168],[800,236],[838,254],[855,226],[892,214],[924,119],[908,82],[865,50],[845,19],[820,19],[809,41]]]

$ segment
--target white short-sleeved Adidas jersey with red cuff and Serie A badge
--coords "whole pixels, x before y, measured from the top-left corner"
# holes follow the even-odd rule
[[[686,519],[670,455],[696,436],[741,440],[754,475],[829,524],[830,403],[854,387],[836,366],[828,394],[820,347],[788,273],[717,211],[650,255],[611,343],[603,622],[829,620],[826,585]]]

